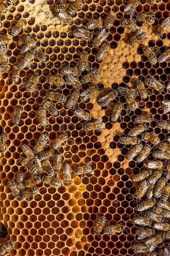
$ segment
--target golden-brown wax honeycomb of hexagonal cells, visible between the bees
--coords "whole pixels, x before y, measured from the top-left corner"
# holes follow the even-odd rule
[[[56,2],[57,3],[57,2]],[[41,63],[37,58],[31,63],[30,68],[25,68],[20,73],[20,80],[14,84],[11,72],[3,73],[0,77],[0,125],[6,133],[7,148],[1,157],[0,167],[0,221],[8,227],[8,236],[4,241],[14,240],[17,243],[10,251],[11,256],[129,256],[134,255],[131,244],[135,240],[135,230],[131,219],[136,215],[134,208],[137,202],[133,200],[136,192],[136,184],[132,183],[130,177],[139,173],[143,163],[134,160],[126,160],[125,155],[130,148],[119,143],[122,134],[127,135],[134,127],[134,119],[143,112],[155,115],[156,120],[167,120],[169,115],[161,109],[161,101],[169,100],[167,89],[159,93],[153,90],[153,94],[144,100],[144,106],[138,107],[134,113],[127,115],[126,105],[123,108],[122,120],[112,124],[110,122],[111,112],[116,100],[109,105],[108,109],[101,108],[96,99],[103,96],[108,90],[117,87],[131,86],[130,78],[138,77],[144,79],[150,74],[163,82],[168,83],[170,64],[167,62],[157,63],[152,67],[147,57],[142,54],[143,45],[159,47],[160,53],[168,47],[170,33],[164,35],[160,40],[150,28],[147,30],[149,38],[136,44],[134,47],[127,45],[129,31],[120,25],[123,17],[129,18],[124,13],[128,1],[121,0],[85,0],[85,4],[77,14],[74,15],[74,25],[62,26],[61,22],[54,17],[50,18],[50,7],[53,0],[46,3],[40,0],[17,0],[15,6],[10,6],[6,14],[2,14],[0,29],[1,35],[11,33],[11,27],[16,20],[24,18],[27,21],[24,31],[13,37],[9,42],[7,54],[11,66],[17,64],[22,55],[17,48],[17,41],[24,33],[36,36],[40,48],[48,56],[48,61]],[[162,0],[149,6],[146,0],[142,0],[137,7],[137,12],[155,9],[156,27],[161,21],[170,15],[170,3]],[[92,46],[92,39],[77,39],[71,34],[71,29],[77,25],[85,25],[89,19],[101,18],[105,20],[108,13],[115,12],[116,20],[109,29],[107,40],[111,49],[102,63],[96,61],[98,49]],[[45,15],[46,12],[46,15]],[[137,22],[138,26],[142,26]],[[94,37],[98,29],[94,30]],[[89,111],[94,119],[103,119],[102,131],[85,132],[82,130],[82,122],[74,116],[72,109],[65,110],[63,104],[57,103],[59,116],[50,114],[45,128],[39,127],[37,110],[48,90],[56,87],[47,83],[50,75],[56,75],[62,67],[76,67],[79,52],[85,49],[89,53],[89,62],[92,68],[96,67],[101,77],[94,82],[104,91],[96,92],[88,101],[79,102],[79,107]],[[37,90],[27,93],[20,85],[28,79],[35,70],[40,74]],[[82,76],[86,72],[82,73]],[[83,84],[82,90],[92,84]],[[68,98],[71,87],[66,86],[62,93]],[[124,102],[124,98],[120,97]],[[137,96],[140,102],[142,99]],[[16,105],[23,106],[23,113],[18,126],[11,122],[11,116]],[[149,132],[159,134],[161,141],[168,136],[167,130],[157,127],[157,121],[153,120],[148,127]],[[23,157],[21,145],[27,144],[33,147],[40,134],[48,133],[50,140],[58,137],[61,125],[68,130],[68,139],[60,148],[62,163],[69,163],[71,169],[92,161],[94,175],[75,177],[72,175],[71,183],[58,189],[47,184],[40,183],[38,198],[17,201],[11,195],[7,186],[8,180],[16,178],[17,172],[25,172],[20,165],[19,159]],[[2,132],[2,131],[1,131]],[[49,150],[45,147],[45,151]],[[148,160],[153,160],[150,153]],[[96,215],[105,214],[111,224],[120,221],[126,230],[120,234],[108,236],[101,234],[94,236],[93,227]]]

